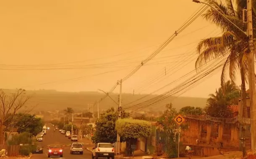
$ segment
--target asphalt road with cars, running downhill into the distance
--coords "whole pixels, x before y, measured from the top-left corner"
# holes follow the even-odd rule
[[[79,141],[78,141],[79,142]],[[70,154],[70,146],[72,142],[70,139],[65,137],[64,134],[61,134],[59,131],[53,131],[53,127],[50,127],[50,130],[43,137],[43,141],[38,142],[39,145],[43,146],[43,154],[33,154],[31,158],[33,159],[47,159],[48,158],[48,146],[51,144],[60,144],[66,145],[63,146],[63,157],[60,156],[51,156],[50,159],[59,158],[59,159],[91,159],[91,152],[86,150],[86,145],[84,147],[84,154]]]

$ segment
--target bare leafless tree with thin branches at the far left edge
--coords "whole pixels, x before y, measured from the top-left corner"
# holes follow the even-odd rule
[[[27,108],[26,103],[29,99],[23,89],[18,89],[15,93],[0,90],[0,132],[3,132],[6,121],[12,120],[21,108]],[[0,144],[3,144],[3,133],[0,133]]]

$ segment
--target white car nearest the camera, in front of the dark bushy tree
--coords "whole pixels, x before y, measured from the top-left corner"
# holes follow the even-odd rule
[[[94,148],[92,148],[91,157],[94,159],[98,159],[99,157],[106,158],[115,158],[114,147],[110,143],[98,143]]]

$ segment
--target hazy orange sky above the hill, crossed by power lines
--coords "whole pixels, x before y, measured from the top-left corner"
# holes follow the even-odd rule
[[[192,0],[1,1],[1,87],[108,91],[199,7]],[[170,82],[155,93],[174,89],[191,77],[179,79],[195,69],[198,42],[219,33],[199,17],[124,81],[123,92],[151,93]],[[181,96],[207,97],[219,76],[214,72]]]

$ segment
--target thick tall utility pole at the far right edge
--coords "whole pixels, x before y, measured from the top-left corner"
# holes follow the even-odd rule
[[[247,2],[247,33],[249,38],[248,72],[250,89],[250,108],[251,108],[251,150],[256,149],[256,89],[255,89],[255,70],[254,70],[254,46],[253,46],[253,20],[252,20],[252,0]]]

